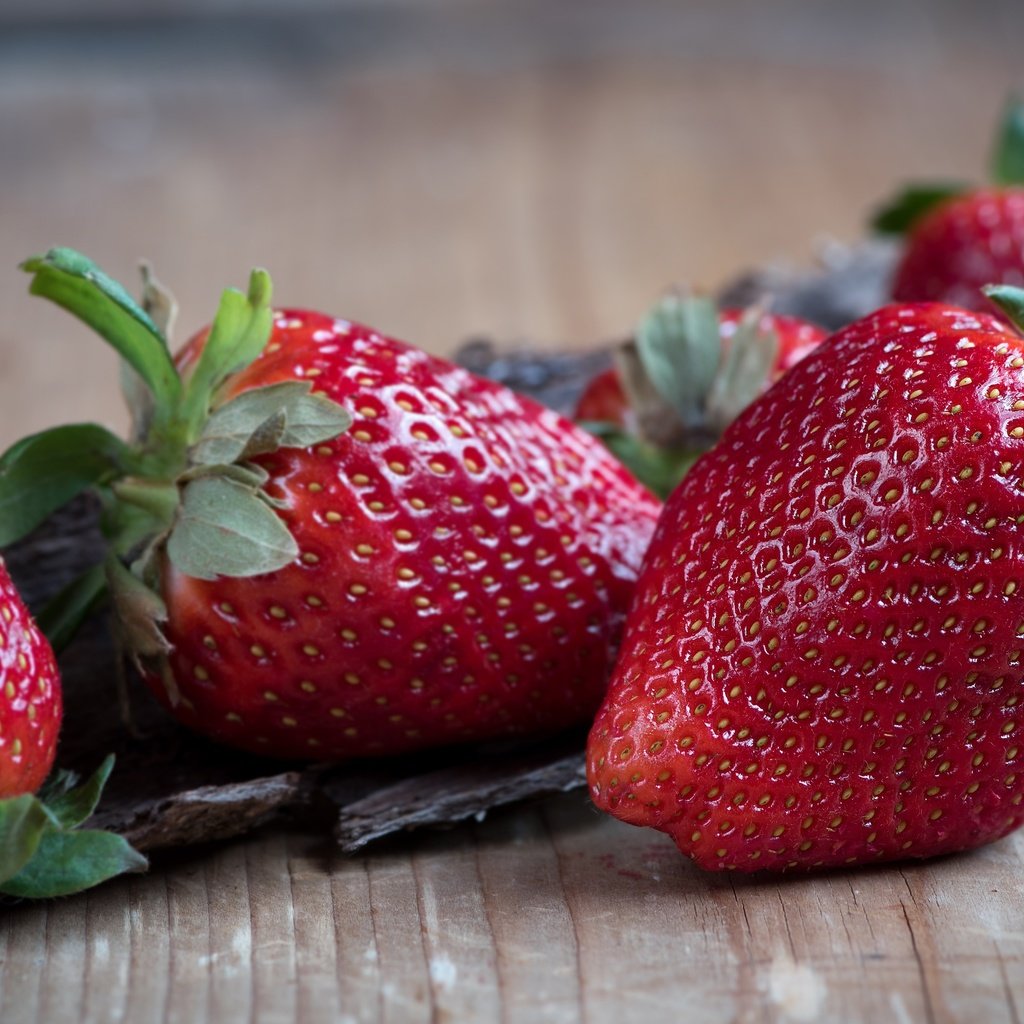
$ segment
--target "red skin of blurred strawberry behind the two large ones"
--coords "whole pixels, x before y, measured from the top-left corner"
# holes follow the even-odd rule
[[[743,315],[742,309],[723,309],[719,313],[723,342],[732,337]],[[771,379],[765,382],[765,387],[777,381],[828,337],[827,331],[797,316],[766,312],[760,325],[762,331],[776,334],[779,346]],[[613,423],[627,430],[636,428],[636,417],[615,370],[605,370],[591,379],[577,402],[572,418],[581,423]]]

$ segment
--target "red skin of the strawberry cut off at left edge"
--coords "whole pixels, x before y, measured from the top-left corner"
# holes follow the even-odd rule
[[[0,560],[0,799],[42,785],[56,754],[61,707],[53,650]]]

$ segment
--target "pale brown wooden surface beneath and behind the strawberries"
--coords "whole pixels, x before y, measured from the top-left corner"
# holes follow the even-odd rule
[[[148,256],[185,331],[259,262],[435,351],[585,346],[673,281],[855,238],[897,179],[979,175],[1024,29],[1011,0],[301,6],[0,11],[0,445],[123,423],[113,357],[13,270],[48,245]],[[4,909],[0,1020],[1019,1024],[1022,855],[710,877],[582,793],[351,858],[274,830]]]

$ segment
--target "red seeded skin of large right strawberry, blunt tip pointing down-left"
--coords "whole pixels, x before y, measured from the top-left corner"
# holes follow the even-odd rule
[[[925,857],[1024,820],[1024,342],[890,306],[666,505],[588,771],[706,868]]]

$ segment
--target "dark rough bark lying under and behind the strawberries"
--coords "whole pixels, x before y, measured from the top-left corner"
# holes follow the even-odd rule
[[[837,327],[879,305],[892,251],[833,249],[818,270],[768,269],[723,293],[730,304],[766,292],[778,311]],[[567,413],[587,381],[611,365],[611,346],[581,354],[541,354],[471,342],[458,359]],[[29,606],[38,611],[102,555],[98,505],[82,498],[4,552]],[[92,772],[108,753],[117,765],[94,817],[139,849],[186,846],[236,836],[275,815],[333,822],[342,849],[393,833],[450,825],[502,804],[581,785],[583,734],[532,744],[488,744],[401,759],[304,765],[220,746],[180,727],[127,672],[132,728],[120,711],[119,665],[103,614],[61,654],[65,725],[58,763]],[[325,814],[326,811],[326,814]],[[330,827],[330,825],[329,825]]]

